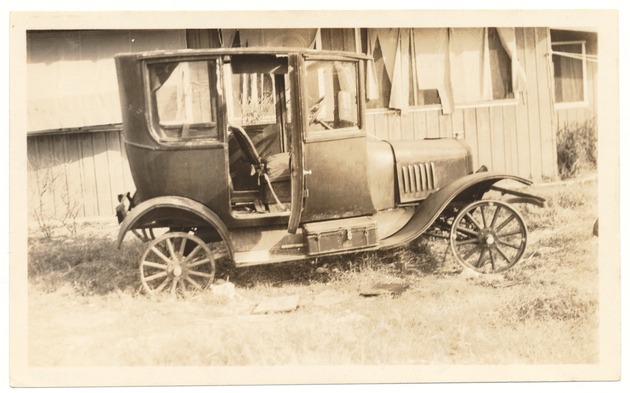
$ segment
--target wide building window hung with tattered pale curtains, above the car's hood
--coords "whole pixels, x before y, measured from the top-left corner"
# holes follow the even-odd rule
[[[524,86],[514,29],[368,29],[364,36],[374,59],[366,73],[370,109],[441,105],[450,113],[513,99],[515,75]]]

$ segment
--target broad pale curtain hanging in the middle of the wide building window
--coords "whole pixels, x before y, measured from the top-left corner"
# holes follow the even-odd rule
[[[436,89],[444,114],[453,112],[448,29],[413,29],[416,79],[420,90]]]

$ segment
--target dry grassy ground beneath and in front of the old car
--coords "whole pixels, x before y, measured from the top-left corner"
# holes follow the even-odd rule
[[[140,291],[135,240],[115,227],[29,242],[31,366],[588,364],[598,361],[596,184],[531,190],[525,258],[502,275],[462,272],[445,245],[243,268],[238,296]],[[96,235],[101,233],[101,235]],[[400,296],[362,297],[377,283]],[[289,313],[260,301],[299,295]]]

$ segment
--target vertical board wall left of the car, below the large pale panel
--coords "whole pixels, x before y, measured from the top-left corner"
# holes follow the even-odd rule
[[[43,218],[60,219],[73,206],[77,217],[113,219],[116,196],[135,190],[122,146],[119,130],[29,136],[31,219],[38,210]]]

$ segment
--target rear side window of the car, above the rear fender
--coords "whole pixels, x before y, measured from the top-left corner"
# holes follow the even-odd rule
[[[217,139],[213,60],[154,63],[149,75],[154,127],[161,140]]]

